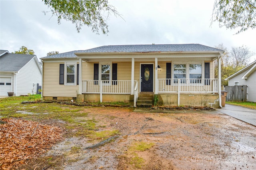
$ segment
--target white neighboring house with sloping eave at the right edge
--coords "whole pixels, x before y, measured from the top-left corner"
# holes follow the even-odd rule
[[[228,86],[247,86],[247,101],[256,102],[256,61],[232,74],[228,80]]]

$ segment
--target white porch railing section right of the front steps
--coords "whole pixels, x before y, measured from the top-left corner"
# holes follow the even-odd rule
[[[158,79],[159,93],[216,93],[218,79]]]

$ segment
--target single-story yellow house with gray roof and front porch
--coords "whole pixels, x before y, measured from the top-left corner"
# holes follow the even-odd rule
[[[40,58],[42,96],[152,106],[157,94],[166,106],[221,107],[220,71],[215,79],[214,60],[220,63],[223,52],[201,44],[152,44],[100,46],[47,56]]]

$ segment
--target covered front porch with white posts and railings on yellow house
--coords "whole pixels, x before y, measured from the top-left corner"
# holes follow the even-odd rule
[[[171,103],[173,105],[180,106],[184,104],[182,100],[190,100],[191,96],[197,96],[194,98],[198,98],[199,100],[199,98],[206,98],[205,96],[209,95],[215,96],[214,102],[216,103],[216,100],[218,100],[218,106],[220,106],[221,104],[219,55],[217,56],[212,54],[197,54],[196,58],[191,58],[191,54],[189,57],[186,55],[180,56],[178,54],[173,54],[172,58],[167,57],[166,55],[147,55],[143,58],[140,55],[110,55],[108,57],[106,57],[105,55],[78,55],[80,65],[78,94],[80,96],[84,96],[82,97],[82,100],[88,101],[90,100],[90,98],[90,101],[100,102],[128,100],[132,101],[134,107],[136,107],[138,94],[143,92],[151,92],[153,94],[157,94],[163,100],[167,100],[166,98],[168,98],[168,96],[172,96],[172,98],[175,98],[174,102],[164,102],[164,104]],[[178,56],[180,58],[178,58]],[[218,60],[218,78],[206,78],[204,70],[205,61],[213,62],[213,60],[215,59]],[[116,80],[113,80],[110,71],[110,76],[108,80],[100,80],[103,78],[102,75],[98,77],[98,80],[92,80],[94,78],[84,78],[85,76],[83,74],[89,71],[86,70],[87,65],[89,65],[90,63],[95,64],[101,62],[110,64],[117,63],[118,67],[121,67],[121,64],[119,64],[119,62],[125,62],[126,64],[124,65],[129,66],[127,66],[127,68],[124,68],[124,70],[126,70],[124,72],[126,72],[125,74],[129,76],[122,76],[122,79],[118,78],[117,76]],[[172,78],[167,78],[167,63],[172,63],[172,66],[175,66],[175,63],[182,63],[183,65],[186,65],[188,63],[200,63],[202,66],[201,78],[174,78],[176,76],[174,75],[174,73],[172,73],[171,75]],[[146,73],[144,74],[144,65],[152,65],[152,71],[149,69],[148,72],[151,77]],[[100,68],[99,72],[101,72]],[[213,73],[211,73],[211,75],[212,74]],[[127,79],[125,77],[127,77]],[[152,87],[147,89],[152,90],[144,91],[143,81],[147,78],[152,81]]]

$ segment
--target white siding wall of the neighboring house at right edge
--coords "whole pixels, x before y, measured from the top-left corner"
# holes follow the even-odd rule
[[[254,71],[247,79],[242,79],[242,76],[248,72],[250,68],[228,80],[228,86],[234,86],[235,82],[239,82],[239,86],[247,86],[247,101],[256,102],[256,71]]]

